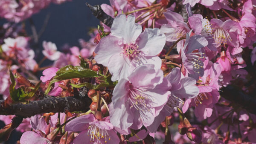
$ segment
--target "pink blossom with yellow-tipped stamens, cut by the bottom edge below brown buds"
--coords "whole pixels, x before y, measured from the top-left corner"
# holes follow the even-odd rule
[[[67,131],[80,132],[74,144],[118,144],[120,140],[113,128],[109,117],[99,121],[93,114],[79,116],[65,126]]]

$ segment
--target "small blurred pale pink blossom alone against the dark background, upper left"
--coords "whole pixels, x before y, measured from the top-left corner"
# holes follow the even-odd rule
[[[43,41],[44,50],[42,51],[44,56],[49,60],[58,60],[61,55],[61,52],[57,51],[55,43]]]

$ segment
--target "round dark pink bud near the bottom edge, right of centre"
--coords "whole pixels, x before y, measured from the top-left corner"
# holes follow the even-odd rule
[[[200,143],[202,140],[201,131],[198,130],[196,127],[188,128],[186,135],[191,141],[194,141],[196,143]]]

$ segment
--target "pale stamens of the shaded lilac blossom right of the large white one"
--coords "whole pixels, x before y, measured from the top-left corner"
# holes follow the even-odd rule
[[[188,58],[188,62],[191,63],[195,69],[200,69],[204,67],[204,63],[200,60],[204,58],[203,55],[203,52],[192,52],[186,54],[186,57]]]

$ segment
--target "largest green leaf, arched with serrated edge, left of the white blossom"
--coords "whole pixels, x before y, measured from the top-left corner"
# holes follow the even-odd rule
[[[63,68],[59,69],[56,72],[55,77],[49,83],[49,86],[47,87],[44,94],[47,95],[51,89],[52,84],[57,81],[67,80],[71,78],[93,78],[97,76],[98,76],[97,72],[91,69],[86,69],[82,66],[72,66],[72,65],[64,66]]]

